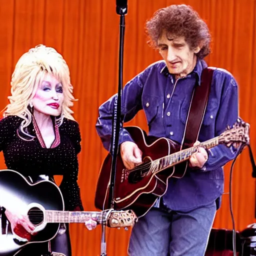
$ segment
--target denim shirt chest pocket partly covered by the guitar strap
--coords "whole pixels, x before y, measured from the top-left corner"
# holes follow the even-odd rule
[[[190,105],[190,101],[189,101],[189,99],[186,99],[186,98],[181,103],[179,116],[180,116],[180,120],[183,124],[186,123],[186,117],[187,117],[189,105]],[[217,108],[218,108],[218,105],[217,105],[216,99],[214,99],[214,98],[209,99],[207,106],[206,106],[206,111],[204,113],[204,118],[202,121],[203,126],[208,126],[215,122]]]

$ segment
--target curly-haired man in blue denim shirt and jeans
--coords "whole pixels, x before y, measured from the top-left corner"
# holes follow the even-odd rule
[[[146,22],[150,45],[163,60],[149,65],[131,79],[122,93],[122,120],[143,109],[149,135],[182,142],[193,89],[200,86],[207,67],[210,34],[198,13],[185,4],[157,10]],[[99,107],[96,124],[103,146],[109,150],[114,98]],[[226,70],[213,72],[210,93],[198,140],[219,135],[238,117],[237,84]],[[126,168],[140,163],[141,150],[127,130],[120,129],[120,154]],[[134,256],[204,255],[216,209],[223,193],[222,166],[237,149],[218,145],[189,158],[182,178],[169,178],[165,194],[134,225],[128,254]]]

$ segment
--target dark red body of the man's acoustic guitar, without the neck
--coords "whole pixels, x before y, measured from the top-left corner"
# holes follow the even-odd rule
[[[114,188],[115,209],[132,209],[137,216],[144,215],[167,189],[168,178],[180,178],[184,175],[187,161],[161,170],[153,171],[152,160],[159,159],[180,150],[180,145],[167,138],[147,136],[139,127],[125,127],[134,142],[142,151],[143,163],[131,171],[125,169],[121,156],[116,159]],[[108,189],[111,172],[110,154],[106,156],[98,177],[95,206],[108,208]]]

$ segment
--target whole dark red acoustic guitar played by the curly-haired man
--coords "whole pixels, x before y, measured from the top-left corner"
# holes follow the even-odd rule
[[[181,178],[187,168],[187,160],[198,150],[192,146],[180,150],[180,145],[167,138],[147,136],[139,127],[125,127],[134,142],[142,151],[142,163],[133,169],[126,169],[120,154],[116,159],[114,203],[115,209],[132,209],[143,216],[159,196],[167,190],[170,177]],[[241,120],[219,136],[201,142],[199,146],[207,149],[220,143],[230,146],[232,143],[249,143],[249,124]],[[95,206],[107,208],[108,188],[111,170],[111,155],[103,161],[95,193]]]

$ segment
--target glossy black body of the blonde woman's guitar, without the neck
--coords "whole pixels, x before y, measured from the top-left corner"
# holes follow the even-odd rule
[[[21,174],[13,170],[0,170],[0,205],[3,205],[2,201],[6,198],[13,202],[19,198],[26,205],[39,203],[45,209],[64,209],[63,198],[57,185],[48,180],[31,184]],[[47,223],[42,230],[32,235],[29,241],[20,241],[16,239],[10,228],[2,226],[0,256],[16,255],[28,243],[48,241],[57,234],[58,228],[59,223]]]

